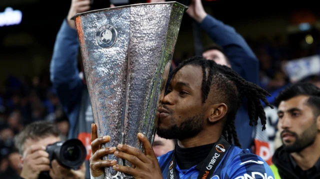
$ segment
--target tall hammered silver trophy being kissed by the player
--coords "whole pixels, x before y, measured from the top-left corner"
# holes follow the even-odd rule
[[[182,15],[177,2],[142,3],[76,14],[84,74],[102,147],[126,144],[143,151],[137,133],[153,143]],[[129,162],[108,155],[104,160]],[[133,177],[105,169],[106,179]]]

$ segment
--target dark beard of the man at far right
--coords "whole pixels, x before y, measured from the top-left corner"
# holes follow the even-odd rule
[[[281,132],[281,135],[284,132],[292,135],[295,138],[295,141],[293,142],[293,144],[285,145],[283,142],[283,139],[281,139],[282,144],[284,146],[283,149],[288,153],[295,153],[295,152],[301,152],[303,149],[312,145],[315,141],[318,130],[316,128],[316,125],[312,124],[306,130],[304,130],[300,136],[298,136],[296,133],[288,131],[288,130],[283,130]]]

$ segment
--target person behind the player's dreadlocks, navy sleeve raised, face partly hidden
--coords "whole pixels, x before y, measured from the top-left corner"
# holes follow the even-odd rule
[[[259,84],[258,59],[233,27],[224,24],[204,11],[201,0],[192,0],[186,11],[190,17],[200,23],[201,28],[206,31],[215,42],[203,50],[202,56],[207,60],[213,60],[217,64],[232,68],[245,80]],[[235,128],[241,147],[249,149],[271,164],[271,155],[263,155],[260,148],[269,151],[268,138],[261,126],[252,127],[249,123],[248,109],[242,104],[237,111]],[[252,145],[253,144],[253,145]],[[252,148],[254,146],[254,148]],[[269,154],[269,153],[267,153]]]

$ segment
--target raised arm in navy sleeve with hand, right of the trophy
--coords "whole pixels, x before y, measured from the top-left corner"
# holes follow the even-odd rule
[[[233,27],[208,15],[201,0],[192,0],[187,13],[198,23],[210,38],[223,48],[224,54],[231,63],[231,68],[241,77],[258,84],[258,60],[254,53]]]

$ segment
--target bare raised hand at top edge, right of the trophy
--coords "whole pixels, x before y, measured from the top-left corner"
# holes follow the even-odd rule
[[[192,0],[186,13],[190,15],[198,23],[201,23],[206,16],[201,0]]]

